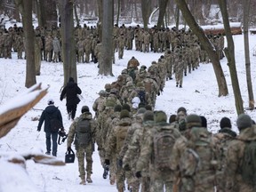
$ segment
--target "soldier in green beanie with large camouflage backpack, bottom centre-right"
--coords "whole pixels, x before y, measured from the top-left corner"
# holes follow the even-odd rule
[[[172,147],[169,142],[169,148],[167,148],[167,146],[161,146],[161,149],[164,149],[165,152],[168,150],[168,153],[162,154],[161,152],[164,151],[159,148],[156,136],[161,135],[161,133],[164,134],[165,132],[168,132],[168,135],[172,135],[170,137],[173,141],[180,138],[180,132],[177,129],[174,129],[171,124],[166,123],[167,116],[164,111],[156,111],[154,120],[155,125],[146,133],[145,142],[142,144],[142,148],[140,150],[140,157],[136,164],[136,176],[140,178],[142,176],[142,170],[144,170],[149,163],[150,192],[162,192],[164,191],[164,186],[166,192],[171,192],[174,172],[171,170],[169,165],[171,156],[168,156],[168,154],[172,154]],[[162,162],[162,160],[165,160],[165,162]],[[166,167],[163,168],[162,166]]]

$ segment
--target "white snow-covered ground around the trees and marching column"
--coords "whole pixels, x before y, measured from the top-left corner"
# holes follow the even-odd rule
[[[242,35],[234,36],[236,45],[236,67],[239,76],[239,84],[244,100],[244,108],[248,107],[248,92],[245,78],[244,65],[244,39]],[[256,57],[252,56],[255,49],[256,38],[250,36],[251,44],[251,64],[252,64],[252,87],[256,84]],[[127,61],[134,56],[140,61],[140,65],[149,66],[151,61],[158,60],[160,53],[143,53],[132,51],[124,51],[124,59],[118,60],[116,53],[116,64],[113,65],[113,74],[115,76],[98,76],[98,68],[96,64],[77,64],[78,85],[83,93],[83,100],[79,103],[76,116],[80,115],[82,106],[88,105],[92,110],[93,101],[98,97],[97,92],[104,89],[104,85],[116,81],[116,77],[121,73],[127,65]],[[175,114],[177,109],[185,107],[188,114],[196,113],[205,116],[208,121],[208,129],[211,132],[217,132],[219,129],[220,119],[228,116],[236,129],[236,107],[231,80],[227,66],[227,60],[221,60],[221,65],[228,83],[229,94],[226,97],[218,97],[218,86],[213,72],[212,64],[200,64],[200,68],[184,76],[183,88],[176,88],[174,79],[166,82],[164,92],[156,99],[156,109],[162,109],[168,116]],[[26,61],[17,60],[16,53],[12,54],[12,60],[0,59],[0,106],[4,106],[7,100],[26,91],[24,86],[26,75]],[[66,101],[60,101],[60,89],[63,85],[63,67],[62,63],[42,62],[41,76],[36,76],[36,82],[42,83],[44,87],[50,86],[48,94],[34,108],[31,108],[25,116],[20,119],[19,124],[12,129],[7,136],[0,139],[0,155],[1,153],[27,153],[29,151],[45,152],[44,132],[36,132],[38,121],[33,121],[34,117],[39,117],[42,110],[47,106],[47,100],[53,99],[55,105],[60,108],[64,119],[65,129],[68,132],[71,121],[68,120],[66,112]],[[255,110],[245,111],[246,114],[252,116],[256,120]],[[58,158],[64,160],[67,149],[66,142],[58,148]],[[110,192],[116,191],[115,186],[110,186],[109,180],[102,178],[102,167],[100,166],[100,158],[98,152],[93,154],[93,174],[92,184],[86,186],[79,185],[77,159],[75,164],[67,164],[65,166],[50,166],[43,164],[35,164],[33,161],[27,161],[28,176],[34,183],[35,190],[41,192],[55,191],[93,191],[93,192]],[[4,161],[0,159],[0,183],[4,180],[5,187],[0,185],[0,191],[12,191],[6,188],[8,186],[23,186],[20,191],[27,191],[26,182],[17,178],[6,180],[8,172],[18,172],[20,168],[14,168],[14,171]],[[17,173],[17,175],[18,175]],[[13,175],[13,174],[12,174]],[[14,174],[15,176],[15,174]],[[16,181],[17,182],[16,182]],[[31,183],[30,183],[31,184]],[[26,188],[27,186],[27,188]],[[30,191],[32,191],[30,189]]]

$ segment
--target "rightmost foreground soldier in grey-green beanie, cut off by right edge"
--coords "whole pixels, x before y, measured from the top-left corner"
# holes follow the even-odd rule
[[[256,140],[256,127],[252,125],[252,118],[244,114],[238,116],[236,124],[239,135],[228,145],[226,166],[224,167],[225,192],[254,192],[255,181],[250,184],[249,180],[244,180],[241,166],[247,143]],[[250,179],[255,180],[255,178]]]

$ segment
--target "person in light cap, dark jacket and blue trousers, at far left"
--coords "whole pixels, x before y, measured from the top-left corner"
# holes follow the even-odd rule
[[[62,116],[59,108],[54,106],[54,101],[48,100],[48,106],[44,109],[42,115],[40,116],[39,123],[37,126],[37,132],[41,131],[42,124],[44,123],[44,132],[46,137],[46,153],[47,155],[51,155],[51,146],[52,146],[52,156],[57,156],[57,138],[58,131],[53,132],[51,129],[51,119],[58,119],[62,124]],[[52,143],[51,143],[52,137]]]

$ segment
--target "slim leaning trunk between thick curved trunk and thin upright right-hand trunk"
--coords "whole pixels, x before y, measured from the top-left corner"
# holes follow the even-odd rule
[[[220,4],[220,12],[222,14],[222,20],[225,28],[225,34],[228,42],[228,48],[225,48],[224,51],[227,56],[228,60],[228,68],[230,72],[231,82],[232,82],[232,88],[235,96],[235,102],[236,102],[236,113],[237,115],[244,113],[244,107],[243,107],[243,100],[240,92],[238,77],[236,73],[236,60],[235,60],[235,46],[234,41],[229,25],[228,20],[228,9],[227,9],[227,2],[226,0],[219,0]]]

